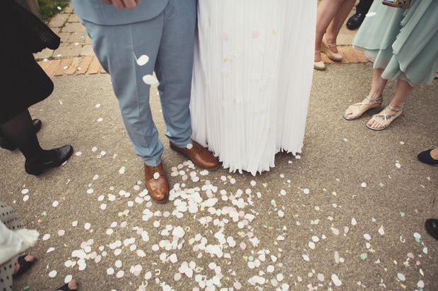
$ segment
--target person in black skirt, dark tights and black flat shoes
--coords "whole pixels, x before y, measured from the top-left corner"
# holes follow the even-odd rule
[[[51,35],[47,25],[13,0],[0,2],[0,33],[3,38],[0,55],[7,56],[4,58],[7,69],[0,73],[0,146],[9,150],[18,147],[26,159],[26,173],[40,175],[73,154],[70,145],[42,149],[35,134],[41,122],[32,120],[28,111],[53,91],[52,80],[32,53],[47,46],[51,49],[59,46],[59,37]]]

